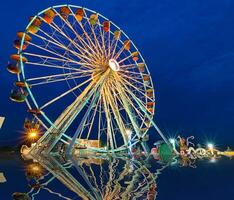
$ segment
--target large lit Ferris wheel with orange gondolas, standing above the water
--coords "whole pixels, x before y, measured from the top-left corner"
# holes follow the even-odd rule
[[[70,144],[70,150],[75,145],[119,151],[147,139],[150,126],[156,127],[145,61],[104,16],[78,6],[54,6],[32,17],[17,36],[18,54],[11,56],[15,64],[8,65],[18,74],[11,99],[25,100],[47,129],[37,144],[49,151],[58,141]],[[68,105],[56,118],[49,116],[65,105],[61,102]],[[79,125],[71,133],[76,119]]]

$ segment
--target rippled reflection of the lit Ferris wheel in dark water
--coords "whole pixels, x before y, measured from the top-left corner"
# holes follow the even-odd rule
[[[134,197],[156,199],[157,185],[155,181],[164,167],[160,167],[156,169],[156,173],[152,173],[148,169],[149,166],[146,165],[147,161],[132,160],[128,157],[108,159],[108,162],[106,158],[100,157],[75,159],[72,160],[72,164],[70,161],[69,164],[61,164],[58,157],[41,159],[43,166],[47,166],[46,169],[51,174],[44,173],[43,176],[38,176],[35,175],[35,172],[31,172],[38,178],[38,182],[36,187],[32,187],[28,193],[30,197],[35,197],[46,190],[53,195],[71,200],[72,198],[63,196],[60,191],[55,192],[49,188],[50,183],[57,178],[82,199],[130,200]],[[32,163],[28,165],[28,168],[38,171],[40,165]],[[74,169],[77,169],[77,173]],[[53,178],[50,175],[56,176]]]

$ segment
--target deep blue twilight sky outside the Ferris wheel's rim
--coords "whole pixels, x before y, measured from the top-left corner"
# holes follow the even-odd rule
[[[169,135],[194,134],[201,142],[234,142],[233,0],[7,0],[1,3],[0,145],[20,137],[26,106],[10,102],[15,80],[6,71],[12,42],[28,17],[56,4],[103,14],[135,42],[151,72],[156,117]],[[154,131],[151,131],[154,134]],[[12,140],[12,141],[11,141]],[[234,145],[234,144],[233,144]]]

